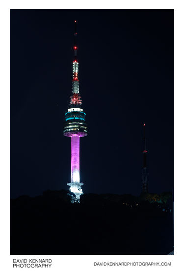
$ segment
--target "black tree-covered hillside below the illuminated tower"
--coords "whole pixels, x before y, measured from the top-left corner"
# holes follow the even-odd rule
[[[71,204],[67,191],[46,191],[43,196],[11,199],[10,215],[10,254],[168,254],[173,250],[172,211],[165,203],[141,197],[84,194],[80,204]]]

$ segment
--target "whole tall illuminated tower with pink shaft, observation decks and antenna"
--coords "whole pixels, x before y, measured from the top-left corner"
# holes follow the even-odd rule
[[[70,96],[70,105],[65,113],[65,123],[63,127],[63,135],[71,137],[71,181],[67,182],[70,191],[76,195],[76,199],[80,199],[82,194],[79,170],[79,143],[80,137],[87,135],[87,125],[85,122],[85,113],[81,108],[81,96],[79,94],[79,61],[77,58],[77,21],[75,21],[74,32],[74,60],[72,93]]]

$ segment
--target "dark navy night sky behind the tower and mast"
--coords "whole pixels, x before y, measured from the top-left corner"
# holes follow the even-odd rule
[[[69,189],[62,135],[78,21],[84,193],[139,195],[174,183],[174,10],[10,10],[10,196]]]

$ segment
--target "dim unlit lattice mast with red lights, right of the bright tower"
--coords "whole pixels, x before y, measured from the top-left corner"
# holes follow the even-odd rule
[[[143,137],[143,176],[142,176],[142,193],[148,192],[148,180],[147,180],[147,165],[146,165],[146,125],[143,124],[144,137]]]

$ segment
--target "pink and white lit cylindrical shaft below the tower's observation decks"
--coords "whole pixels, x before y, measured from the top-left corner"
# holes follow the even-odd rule
[[[71,182],[80,181],[80,160],[79,160],[80,137],[71,136]]]

